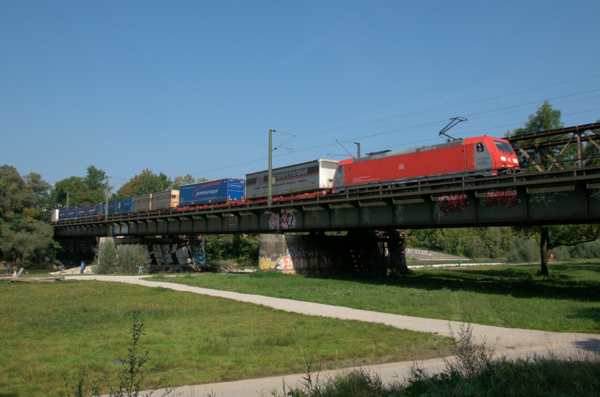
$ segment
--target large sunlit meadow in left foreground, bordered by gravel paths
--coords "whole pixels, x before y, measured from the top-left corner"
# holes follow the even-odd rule
[[[159,370],[149,382],[160,373],[165,385],[303,372],[304,357],[313,368],[435,357],[452,343],[378,324],[100,281],[1,282],[0,302],[1,396],[65,395],[63,374],[114,377],[131,342],[133,311],[146,326],[140,349],[150,351],[149,366]]]

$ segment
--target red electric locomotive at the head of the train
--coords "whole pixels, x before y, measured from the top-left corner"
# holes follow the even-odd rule
[[[338,163],[334,192],[450,181],[516,172],[517,155],[505,139],[482,136],[400,151],[382,151]]]

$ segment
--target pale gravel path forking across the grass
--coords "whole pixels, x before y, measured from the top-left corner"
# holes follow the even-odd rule
[[[81,278],[85,280],[100,280],[112,282],[125,282],[128,284],[143,285],[146,287],[164,287],[176,291],[186,291],[191,293],[204,294],[209,296],[223,297],[226,299],[239,300],[241,302],[255,303],[274,309],[288,312],[295,312],[306,315],[316,315],[321,317],[341,318],[343,320],[368,321],[370,323],[387,324],[398,329],[409,329],[418,332],[436,333],[438,335],[451,336],[449,326],[457,334],[461,323],[457,321],[436,320],[433,318],[409,317],[399,314],[388,314],[373,312],[367,310],[351,309],[341,306],[324,305],[322,303],[301,302],[298,300],[281,299],[262,295],[242,294],[230,291],[211,290],[209,288],[190,287],[189,285],[175,284],[172,282],[149,281],[142,279],[148,276],[101,276],[101,275],[82,275],[68,276],[68,278]],[[503,328],[496,326],[486,326],[472,324],[473,336],[476,342],[487,341],[493,344],[497,341],[496,352],[498,354],[507,354],[517,356],[531,354],[533,352],[547,353],[548,351],[558,352],[560,354],[577,354],[578,351],[600,351],[600,335],[588,333],[562,333],[545,332],[539,330]],[[376,368],[368,368],[369,371],[376,371],[382,380],[390,381],[398,376],[407,374],[408,368],[413,363],[392,363],[379,365]],[[427,360],[419,363],[421,368],[428,368],[432,371],[443,369],[443,361],[440,359]],[[331,375],[329,372],[323,372],[322,377]],[[255,380],[242,380],[236,382],[217,383],[199,386],[185,386],[177,389],[173,396],[204,396],[207,392],[214,392],[216,396],[245,396],[250,394],[241,393],[244,390],[248,393],[252,390],[252,395],[260,390],[265,395],[270,395],[270,391],[281,387],[282,378],[287,384],[295,384],[302,380],[302,374],[289,375],[286,377],[262,378]],[[258,394],[260,395],[260,393]]]

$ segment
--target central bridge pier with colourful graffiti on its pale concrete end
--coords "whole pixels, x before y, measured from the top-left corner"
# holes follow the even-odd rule
[[[306,276],[382,276],[407,271],[403,230],[356,230],[346,236],[261,234],[259,270]]]

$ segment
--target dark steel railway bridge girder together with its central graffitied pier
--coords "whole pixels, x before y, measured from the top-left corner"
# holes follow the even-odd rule
[[[271,206],[247,203],[63,219],[53,227],[56,239],[67,243],[110,235],[131,240],[261,233],[260,266],[314,274],[401,270],[401,230],[406,228],[598,221],[600,167],[589,167],[275,199]],[[322,233],[336,230],[349,233]]]

